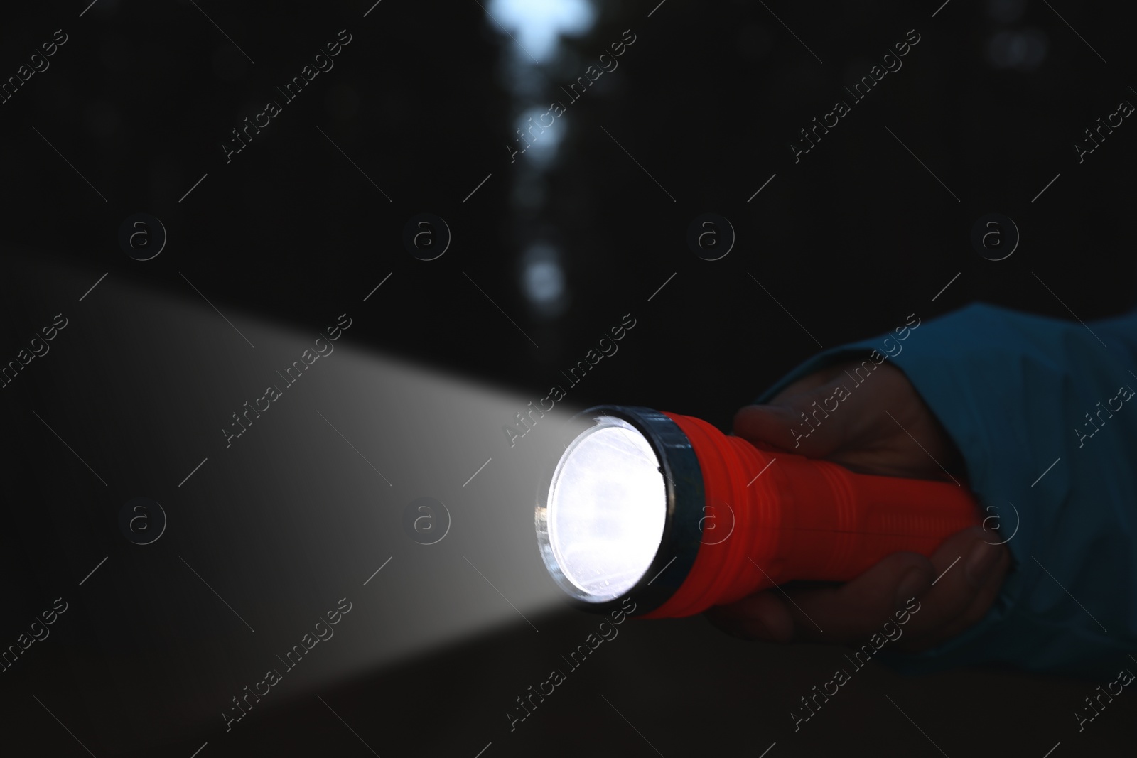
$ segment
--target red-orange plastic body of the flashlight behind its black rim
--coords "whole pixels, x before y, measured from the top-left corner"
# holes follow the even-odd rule
[[[691,616],[791,580],[845,582],[894,552],[930,556],[980,523],[960,485],[856,474],[664,415],[698,457],[703,534],[681,586],[646,618]]]

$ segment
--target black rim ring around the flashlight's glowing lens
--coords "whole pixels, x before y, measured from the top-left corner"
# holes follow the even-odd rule
[[[656,550],[652,565],[644,576],[623,594],[600,602],[584,599],[584,593],[578,588],[557,563],[549,542],[548,498],[553,485],[553,476],[558,460],[546,466],[537,491],[537,544],[541,559],[553,580],[568,595],[568,601],[576,608],[591,613],[608,613],[621,608],[625,598],[636,603],[634,616],[650,613],[665,603],[680,588],[698,555],[703,539],[703,470],[698,458],[679,425],[658,410],[636,406],[594,406],[572,417],[567,428],[562,434],[562,447],[567,449],[581,433],[575,422],[588,419],[596,423],[601,416],[612,416],[631,424],[644,435],[656,458],[659,460],[659,472],[664,476],[666,490],[666,517],[659,548]]]

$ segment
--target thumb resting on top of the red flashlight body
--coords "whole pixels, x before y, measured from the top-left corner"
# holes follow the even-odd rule
[[[735,434],[748,442],[824,458],[849,436],[849,414],[843,418],[831,413],[838,408],[833,392],[832,383],[827,383],[770,405],[745,406],[735,414]]]

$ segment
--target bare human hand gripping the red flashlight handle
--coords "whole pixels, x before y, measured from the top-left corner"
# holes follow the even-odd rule
[[[860,363],[831,366],[798,380],[769,405],[741,408],[735,434],[862,474],[945,481],[961,476],[962,455],[904,373],[885,363],[856,384],[845,373],[854,366]],[[802,413],[820,407],[843,384],[848,391],[837,410],[802,436],[810,428]],[[790,430],[799,431],[795,435]],[[926,650],[960,634],[990,608],[1011,564],[1009,551],[997,542],[994,532],[964,530],[930,559],[897,552],[844,584],[764,590],[711,608],[706,616],[724,632],[747,639],[861,642],[914,597],[921,613],[911,616],[893,648]]]

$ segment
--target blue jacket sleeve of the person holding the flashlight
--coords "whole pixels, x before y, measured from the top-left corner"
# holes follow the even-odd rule
[[[888,663],[910,673],[1004,663],[1084,676],[1131,663],[1137,310],[1084,325],[972,305],[901,333],[819,353],[757,400],[837,360],[888,355],[960,448],[979,502],[998,515],[993,540],[1010,538],[1012,568],[984,619]]]

